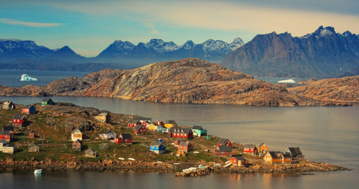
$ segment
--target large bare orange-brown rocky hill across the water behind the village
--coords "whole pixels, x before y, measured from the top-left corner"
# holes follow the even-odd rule
[[[57,80],[42,88],[0,87],[0,95],[109,96],[156,102],[268,106],[327,105],[310,95],[289,93],[281,85],[253,79],[196,58],[155,63],[134,70],[106,69],[81,79]]]

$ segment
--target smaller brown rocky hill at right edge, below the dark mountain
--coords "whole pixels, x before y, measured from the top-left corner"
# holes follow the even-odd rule
[[[359,103],[359,76],[319,80],[306,86],[288,88],[288,91],[314,100]]]

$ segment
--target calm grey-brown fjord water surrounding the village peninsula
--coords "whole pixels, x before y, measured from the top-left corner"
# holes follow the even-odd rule
[[[0,96],[14,103],[38,103],[42,97]],[[137,114],[153,120],[174,119],[180,125],[202,125],[209,134],[240,143],[266,143],[270,150],[284,151],[299,146],[307,159],[336,164],[352,171],[314,172],[315,175],[210,175],[175,178],[158,173],[45,172],[35,178],[30,172],[5,172],[0,182],[21,180],[27,186],[97,186],[109,188],[357,188],[359,186],[359,106],[352,107],[256,107],[241,105],[176,104],[132,101],[116,98],[53,96],[54,101],[106,109],[114,113]],[[57,178],[57,179],[56,179]],[[77,178],[77,179],[76,179]],[[81,178],[81,179],[80,179]],[[81,180],[81,182],[79,182]],[[136,182],[136,181],[143,181]],[[142,185],[143,183],[143,185]],[[161,183],[161,184],[160,184]],[[178,184],[178,185],[176,185]],[[5,184],[6,185],[6,184]],[[25,185],[25,186],[26,186]],[[9,185],[11,186],[11,185]],[[61,188],[61,187],[59,187]],[[72,187],[71,187],[72,188]],[[96,187],[95,187],[96,188]]]

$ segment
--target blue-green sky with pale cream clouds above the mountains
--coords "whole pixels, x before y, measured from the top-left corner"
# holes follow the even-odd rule
[[[97,56],[115,40],[178,45],[319,26],[359,33],[359,0],[0,0],[0,38]]]

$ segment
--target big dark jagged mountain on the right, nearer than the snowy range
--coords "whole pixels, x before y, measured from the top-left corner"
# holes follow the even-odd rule
[[[323,26],[302,37],[257,35],[221,64],[255,77],[336,77],[359,66],[359,35]]]

